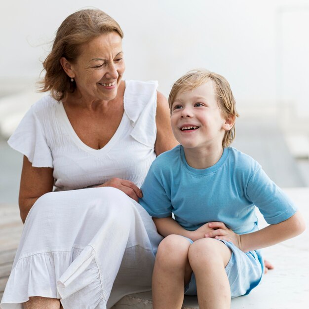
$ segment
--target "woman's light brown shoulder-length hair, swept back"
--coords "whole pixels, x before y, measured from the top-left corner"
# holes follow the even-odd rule
[[[43,62],[46,73],[41,80],[40,92],[50,91],[57,101],[74,92],[76,83],[64,72],[60,58],[76,63],[82,44],[110,32],[116,32],[123,38],[117,22],[99,9],[83,9],[69,15],[57,30],[52,50]]]

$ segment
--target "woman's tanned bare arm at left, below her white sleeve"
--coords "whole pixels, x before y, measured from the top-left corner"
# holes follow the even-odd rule
[[[23,223],[36,200],[53,189],[53,169],[50,167],[33,167],[24,156],[19,189],[19,210]]]

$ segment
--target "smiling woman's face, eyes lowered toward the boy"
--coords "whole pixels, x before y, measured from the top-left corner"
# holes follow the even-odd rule
[[[125,69],[120,36],[110,32],[82,45],[71,69],[77,91],[84,99],[114,99]]]

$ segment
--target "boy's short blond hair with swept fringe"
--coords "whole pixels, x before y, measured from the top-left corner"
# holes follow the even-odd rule
[[[225,132],[222,141],[222,146],[228,147],[235,138],[234,124],[236,117],[238,117],[239,115],[236,111],[236,102],[232,94],[231,86],[227,79],[222,75],[210,72],[205,69],[189,71],[184,76],[176,80],[173,84],[173,87],[168,97],[169,108],[172,111],[173,102],[179,91],[193,90],[209,80],[213,80],[215,84],[215,91],[218,97],[218,106],[221,109],[223,116],[226,118],[228,116],[233,117],[233,126],[229,131]]]

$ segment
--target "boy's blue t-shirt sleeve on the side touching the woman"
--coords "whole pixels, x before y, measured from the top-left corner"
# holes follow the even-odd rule
[[[145,181],[141,187],[143,197],[139,203],[154,218],[166,218],[171,216],[172,204],[168,185],[160,175],[160,169],[154,160]]]

